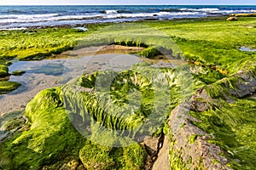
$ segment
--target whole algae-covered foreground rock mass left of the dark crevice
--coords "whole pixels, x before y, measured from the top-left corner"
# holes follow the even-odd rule
[[[144,130],[154,134],[162,128],[170,109],[190,95],[189,83],[188,87],[183,86],[183,82],[189,82],[189,75],[185,67],[155,69],[148,64],[138,64],[130,71],[96,72],[74,79],[61,88],[43,90],[26,105],[29,130],[15,134],[0,145],[1,167],[61,167],[58,162],[63,164],[63,160],[72,161],[79,156],[88,169],[141,169],[146,151],[136,142],[129,143],[131,139],[124,136],[140,136]],[[102,85],[111,77],[113,80],[107,90]],[[163,90],[166,78],[167,91]],[[184,93],[180,88],[188,89]],[[167,99],[166,92],[172,94]],[[106,95],[111,100],[106,100]],[[141,127],[149,116],[162,125],[152,128],[151,122]],[[90,126],[90,136],[85,135],[84,123]],[[78,127],[82,131],[78,132]],[[102,127],[112,130],[103,132]],[[121,138],[116,137],[120,133]],[[113,144],[100,145],[101,139]],[[114,148],[118,143],[123,147]]]

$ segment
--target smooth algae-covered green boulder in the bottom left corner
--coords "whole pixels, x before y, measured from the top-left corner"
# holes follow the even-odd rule
[[[59,93],[58,88],[44,90],[26,106],[30,129],[0,145],[0,167],[39,169],[79,151],[83,138],[61,108]]]

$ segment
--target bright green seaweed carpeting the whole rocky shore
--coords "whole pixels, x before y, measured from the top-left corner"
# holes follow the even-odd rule
[[[145,151],[138,144],[133,149],[131,149],[132,147],[125,149],[94,144],[88,139],[84,139],[73,128],[70,119],[80,123],[80,125],[89,124],[95,130],[101,130],[96,125],[97,122],[103,127],[118,129],[121,132],[128,130],[129,133],[124,133],[124,135],[134,137],[134,134],[142,133],[137,127],[140,127],[140,123],[150,115],[154,105],[160,106],[156,108],[155,112],[161,111],[163,108],[171,111],[183,99],[191,95],[191,88],[195,90],[206,84],[209,84],[205,86],[207,94],[219,99],[219,102],[213,105],[212,110],[209,111],[190,111],[190,115],[201,120],[201,122],[194,122],[194,124],[214,136],[214,138],[209,139],[209,142],[221,146],[225,151],[225,156],[231,160],[230,167],[234,169],[256,167],[253,162],[256,150],[256,137],[253,133],[256,124],[256,117],[253,114],[255,112],[255,99],[236,99],[237,96],[235,95],[232,97],[234,103],[226,103],[223,99],[231,97],[227,88],[236,89],[237,78],[231,77],[228,81],[224,79],[218,82],[226,75],[230,76],[241,69],[252,70],[255,74],[255,52],[239,50],[241,46],[256,48],[256,34],[254,29],[247,27],[248,25],[255,25],[255,17],[241,18],[237,22],[227,22],[225,18],[218,18],[218,20],[143,21],[118,26],[96,24],[86,26],[89,28],[89,31],[86,32],[79,32],[71,28],[0,31],[0,58],[3,60],[0,63],[0,77],[6,77],[9,74],[8,59],[44,59],[51,54],[60,54],[73,48],[113,43],[145,47],[143,55],[148,57],[158,54],[154,47],[160,45],[162,48],[157,49],[161,53],[173,55],[177,59],[185,58],[195,61],[190,68],[179,67],[173,70],[162,70],[163,75],[168,79],[168,85],[171,87],[168,93],[172,94],[170,103],[165,105],[161,104],[166,99],[161,98],[165,95],[162,95],[163,92],[158,90],[160,87],[152,88],[151,86],[152,81],[159,80],[148,80],[140,74],[143,70],[148,71],[148,75],[154,73],[153,70],[145,69],[145,65],[137,65],[137,70],[124,71],[119,74],[119,77],[114,79],[111,89],[103,91],[103,93],[101,91],[94,92],[96,77],[101,74],[102,77],[109,77],[111,74],[116,76],[115,73],[97,72],[95,75],[80,77],[73,84],[40,92],[26,106],[26,116],[31,123],[30,130],[16,134],[0,145],[0,168],[39,169],[50,167],[64,157],[70,159],[72,157],[73,160],[73,157],[78,158],[78,156],[80,156],[84,166],[89,169],[96,165],[106,169],[113,167],[141,168]],[[153,30],[163,32],[158,35],[148,35],[148,32]],[[90,36],[90,33],[94,31],[99,31],[99,34]],[[191,73],[193,74],[193,83],[189,78]],[[135,81],[135,77],[139,77],[138,82]],[[122,82],[123,80],[127,82]],[[102,79],[102,82],[104,81],[108,82],[108,80]],[[1,83],[4,90],[12,87],[9,85],[18,86],[15,82]],[[84,91],[73,93],[73,88],[68,85],[73,86],[74,84]],[[153,103],[155,100],[154,90],[160,95],[160,102],[156,104]],[[182,90],[184,92],[180,93]],[[112,101],[104,101],[106,95],[110,96]],[[100,107],[97,99],[102,99],[102,103],[106,104],[103,105],[106,106],[104,109]],[[114,112],[113,108],[116,107],[107,107],[113,103],[116,106],[132,104],[136,108],[130,112],[130,108],[126,108],[124,113],[128,116],[124,118],[118,115],[119,110]],[[142,105],[136,105],[137,103]],[[111,114],[105,114],[108,111]],[[168,111],[166,111],[165,116],[160,116],[163,118],[163,122],[166,122]],[[88,112],[90,115],[83,114]],[[132,113],[136,113],[135,116],[131,116]],[[154,118],[158,119],[159,116],[156,114]],[[166,133],[165,123],[160,126],[160,128],[162,127]],[[159,129],[148,128],[150,133],[157,130]],[[113,134],[113,137],[115,135],[116,133]],[[96,133],[93,133],[91,138],[99,139]],[[195,139],[196,136],[192,136],[192,142]],[[113,141],[110,142],[120,141],[113,138]],[[182,157],[172,150],[174,143],[175,141],[171,141],[171,167],[184,169],[186,164]],[[86,150],[90,150],[90,152],[86,152]],[[96,156],[95,153],[99,153],[100,156]],[[138,156],[137,153],[142,154]]]

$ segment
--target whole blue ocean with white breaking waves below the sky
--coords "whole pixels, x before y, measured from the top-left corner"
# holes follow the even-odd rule
[[[256,6],[0,6],[0,30],[256,13]]]

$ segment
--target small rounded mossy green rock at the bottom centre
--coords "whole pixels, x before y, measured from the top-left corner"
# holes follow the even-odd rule
[[[93,169],[142,169],[146,151],[139,144],[112,148],[87,143],[79,157],[88,170]]]

